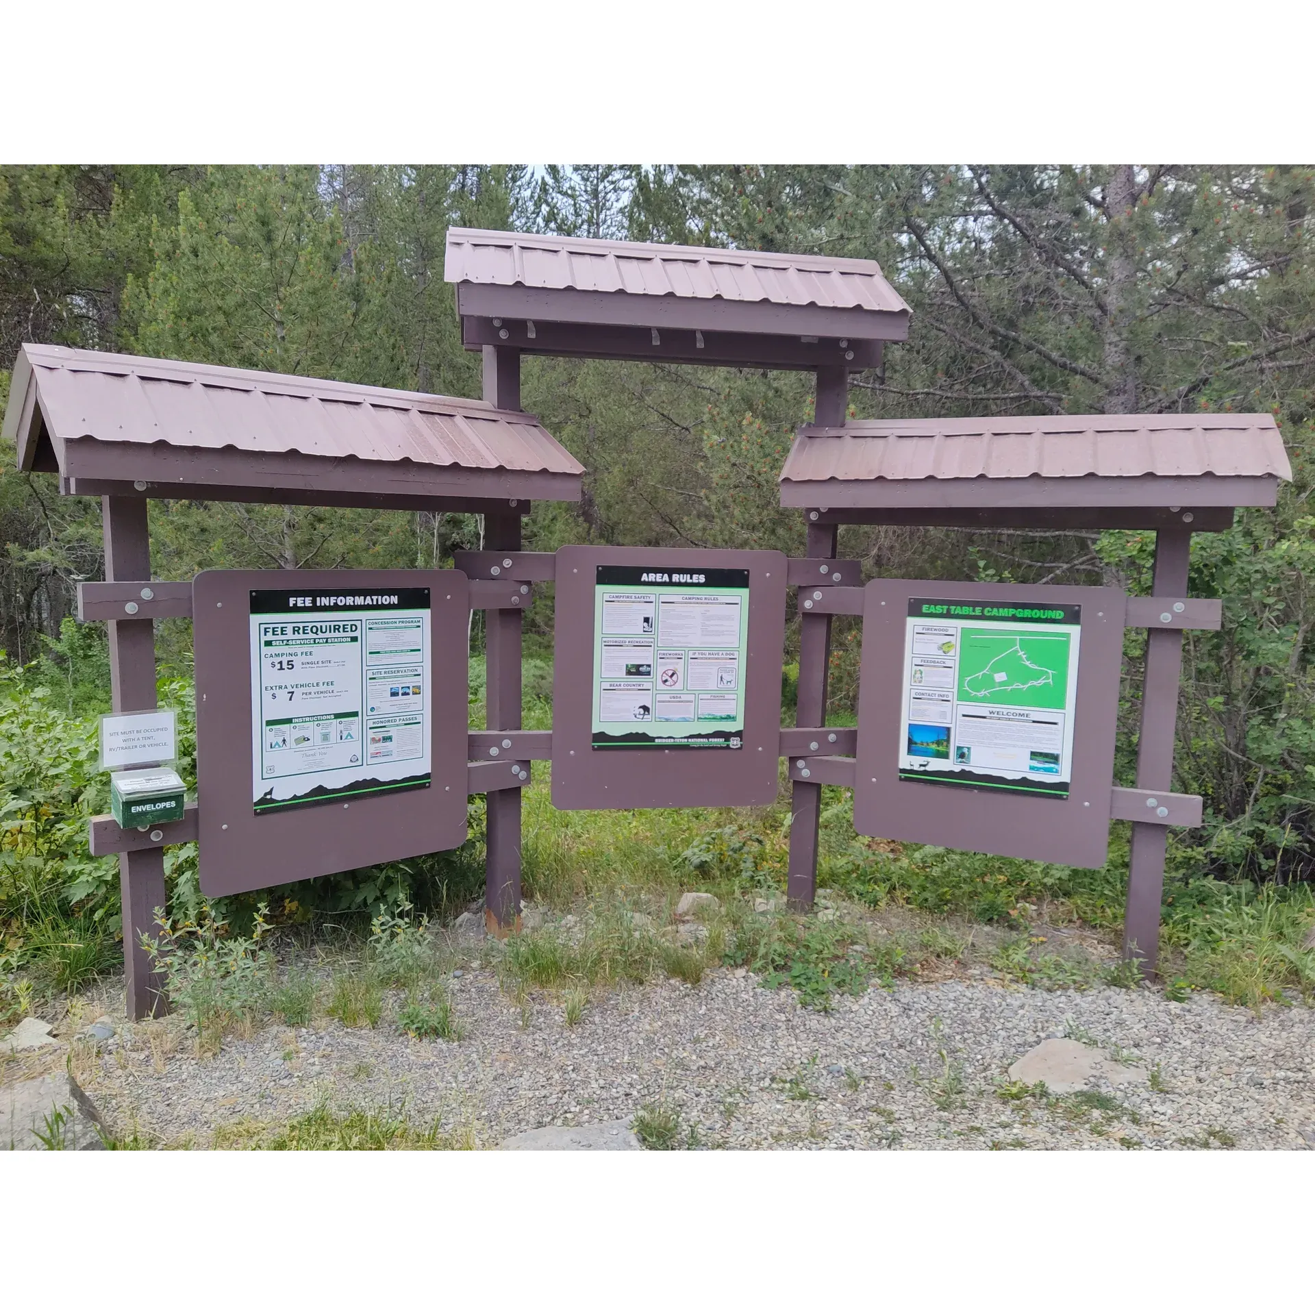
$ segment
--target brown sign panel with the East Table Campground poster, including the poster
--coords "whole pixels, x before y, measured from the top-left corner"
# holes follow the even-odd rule
[[[1124,605],[1119,589],[869,581],[855,828],[1101,867]]]

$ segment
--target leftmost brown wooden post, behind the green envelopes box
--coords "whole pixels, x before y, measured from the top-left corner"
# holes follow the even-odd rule
[[[151,540],[146,498],[100,500],[105,535],[107,580],[150,580]],[[116,713],[155,706],[155,623],[109,622],[109,680]],[[164,907],[164,851],[137,849],[118,856],[118,889],[124,905],[124,978],[129,1018],[162,1014],[163,984],[151,972],[142,934],[155,927],[155,910]]]

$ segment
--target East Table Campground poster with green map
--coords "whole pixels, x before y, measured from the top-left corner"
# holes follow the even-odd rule
[[[911,598],[899,778],[1066,800],[1082,609]]]

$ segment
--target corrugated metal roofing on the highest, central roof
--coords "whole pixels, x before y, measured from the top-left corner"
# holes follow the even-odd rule
[[[448,229],[448,283],[907,312],[876,260]]]

